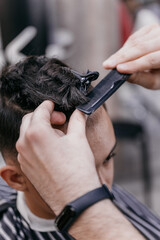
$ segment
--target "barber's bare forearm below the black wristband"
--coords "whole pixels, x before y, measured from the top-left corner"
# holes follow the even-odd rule
[[[101,201],[86,210],[69,232],[77,240],[145,239],[110,200]]]

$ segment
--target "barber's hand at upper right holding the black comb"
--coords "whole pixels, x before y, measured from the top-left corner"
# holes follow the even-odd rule
[[[103,66],[132,73],[129,79],[132,83],[160,89],[160,25],[150,25],[135,32]]]

